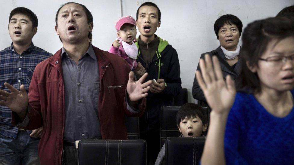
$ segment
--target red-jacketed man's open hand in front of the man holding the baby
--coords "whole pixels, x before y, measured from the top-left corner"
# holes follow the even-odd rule
[[[127,93],[129,95],[130,101],[136,102],[148,95],[150,89],[150,84],[152,80],[149,80],[145,83],[148,73],[145,73],[138,81],[134,81],[134,73],[130,72],[129,81],[127,84]]]

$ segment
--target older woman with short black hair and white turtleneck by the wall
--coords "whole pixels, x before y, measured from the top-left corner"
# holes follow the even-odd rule
[[[200,57],[203,59],[205,54],[217,56],[220,60],[220,69],[224,78],[226,75],[230,75],[233,80],[236,80],[241,72],[241,61],[239,60],[241,47],[238,43],[242,33],[242,26],[241,20],[232,14],[219,17],[214,23],[214,32],[220,41],[220,46],[211,52],[203,53]],[[198,65],[197,70],[199,69]],[[194,99],[200,101],[200,105],[207,105],[196,78],[194,78],[192,94]]]

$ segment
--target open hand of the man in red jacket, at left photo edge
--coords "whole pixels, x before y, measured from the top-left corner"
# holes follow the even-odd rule
[[[20,91],[8,83],[4,83],[4,86],[7,87],[11,93],[0,90],[0,105],[7,106],[19,115],[26,114],[29,98],[24,85],[20,85]]]

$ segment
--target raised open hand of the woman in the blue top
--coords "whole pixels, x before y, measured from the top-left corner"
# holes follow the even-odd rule
[[[196,78],[208,105],[214,112],[222,114],[228,112],[233,105],[236,96],[235,83],[230,75],[224,81],[217,57],[213,56],[212,60],[214,68],[208,54],[205,55],[205,61],[200,59],[201,72],[196,71]]]

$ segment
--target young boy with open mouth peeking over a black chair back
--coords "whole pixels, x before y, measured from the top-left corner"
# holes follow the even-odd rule
[[[180,137],[202,136],[208,122],[204,109],[194,103],[186,103],[181,106],[177,113],[177,126],[182,135]],[[165,144],[162,146],[155,165],[165,164]]]

